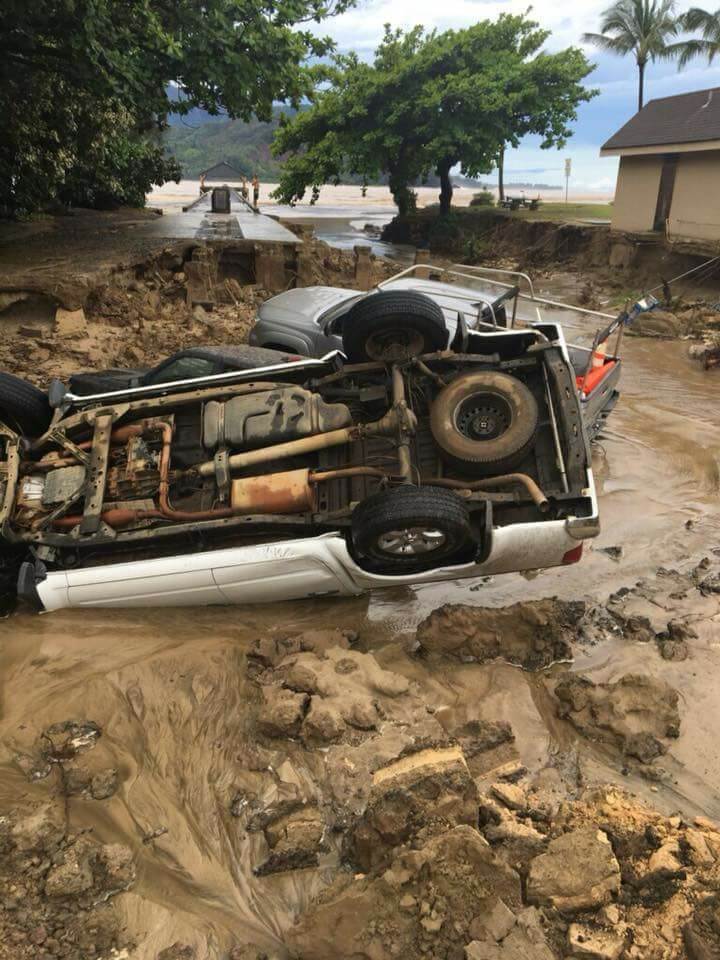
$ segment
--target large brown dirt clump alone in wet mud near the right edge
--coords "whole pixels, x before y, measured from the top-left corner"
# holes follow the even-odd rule
[[[642,763],[665,753],[663,739],[680,733],[677,691],[652,677],[626,674],[615,683],[593,683],[574,673],[557,684],[555,696],[560,717]]]

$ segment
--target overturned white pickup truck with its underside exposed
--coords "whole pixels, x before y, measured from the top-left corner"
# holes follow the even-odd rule
[[[46,610],[250,603],[578,561],[599,530],[561,328],[366,295],[343,352],[3,416],[6,588]]]

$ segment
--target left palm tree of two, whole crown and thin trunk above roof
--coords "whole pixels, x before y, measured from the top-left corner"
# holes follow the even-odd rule
[[[657,58],[680,56],[668,40],[677,36],[681,24],[675,0],[617,0],[602,14],[600,33],[585,33],[583,40],[601,50],[626,56],[635,54],[638,68],[638,110],[645,93],[645,67]]]

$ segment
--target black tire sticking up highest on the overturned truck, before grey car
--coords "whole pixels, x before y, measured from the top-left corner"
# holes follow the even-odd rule
[[[447,345],[443,312],[422,293],[373,293],[354,304],[343,319],[343,350],[352,363],[401,361]]]

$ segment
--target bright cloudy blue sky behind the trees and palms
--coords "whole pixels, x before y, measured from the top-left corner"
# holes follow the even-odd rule
[[[531,16],[552,31],[548,49],[582,46],[581,35],[598,30],[600,13],[608,2],[537,0]],[[713,3],[697,3],[696,0],[693,4],[678,3],[678,11],[691,5],[715,8]],[[319,32],[332,36],[340,49],[356,50],[361,56],[369,57],[382,36],[385,23],[404,29],[422,23],[428,29],[447,30],[494,18],[500,13],[523,13],[527,9],[528,4],[522,0],[360,0],[354,10],[326,20]],[[586,52],[597,64],[588,83],[599,88],[600,95],[581,106],[574,136],[562,151],[540,150],[538,141],[533,140],[512,151],[506,161],[507,179],[562,184],[564,159],[571,157],[571,188],[612,192],[617,161],[600,158],[598,152],[600,145],[636,110],[637,71],[632,57],[612,57],[599,53],[594,47],[587,47]],[[697,61],[680,73],[674,64],[651,64],[646,75],[646,101],[712,86],[720,86],[720,61],[712,67],[704,61]]]

